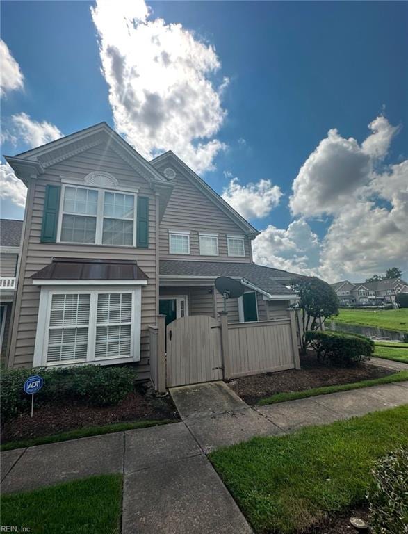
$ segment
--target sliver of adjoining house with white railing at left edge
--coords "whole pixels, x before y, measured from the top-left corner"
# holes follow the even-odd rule
[[[6,361],[10,319],[15,297],[22,220],[0,219],[0,349]]]

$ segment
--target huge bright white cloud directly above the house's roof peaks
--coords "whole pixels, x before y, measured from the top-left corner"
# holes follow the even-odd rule
[[[196,172],[226,146],[214,136],[226,112],[215,49],[181,24],[153,19],[145,2],[97,0],[102,72],[115,128],[147,159],[172,149]]]

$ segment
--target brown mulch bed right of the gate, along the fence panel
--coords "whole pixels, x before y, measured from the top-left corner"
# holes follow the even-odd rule
[[[229,382],[229,387],[250,404],[261,398],[288,391],[304,391],[313,387],[333,386],[381,378],[395,373],[395,369],[357,364],[352,367],[334,367],[320,364],[313,353],[300,358],[302,369],[290,369],[263,375],[244,376]]]

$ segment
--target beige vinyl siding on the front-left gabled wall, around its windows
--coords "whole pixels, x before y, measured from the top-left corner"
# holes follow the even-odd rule
[[[120,186],[137,186],[139,195],[149,197],[149,248],[133,248],[113,245],[78,245],[40,243],[44,192],[47,184],[60,184],[60,177],[83,179],[89,172],[110,172]],[[22,257],[22,276],[17,291],[15,332],[12,351],[14,366],[29,366],[33,362],[35,330],[37,327],[40,288],[33,286],[31,275],[51,263],[52,257],[77,257],[88,259],[131,259],[149,277],[147,286],[142,286],[141,353],[138,368],[139,378],[148,378],[149,325],[156,323],[156,201],[147,181],[139,177],[133,168],[113,150],[99,145],[86,152],[72,156],[47,169],[46,175],[33,185],[33,201],[27,212],[25,242]]]

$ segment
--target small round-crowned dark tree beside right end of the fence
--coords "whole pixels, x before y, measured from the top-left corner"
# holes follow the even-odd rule
[[[300,351],[306,352],[308,342],[305,339],[307,330],[318,330],[327,317],[338,315],[338,296],[327,282],[320,278],[304,277],[291,282],[299,296],[299,307],[302,309],[302,330],[300,332]]]

